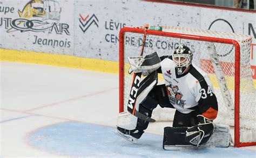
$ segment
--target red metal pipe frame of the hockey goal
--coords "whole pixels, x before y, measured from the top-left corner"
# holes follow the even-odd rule
[[[119,113],[124,112],[124,37],[126,32],[144,34],[145,30],[141,28],[122,28],[119,32]],[[255,146],[256,142],[240,142],[239,129],[239,104],[240,104],[240,45],[237,40],[223,39],[215,37],[206,37],[198,35],[187,35],[183,33],[173,33],[164,31],[147,30],[147,35],[158,35],[173,38],[183,38],[191,40],[203,40],[205,42],[232,44],[235,48],[235,70],[234,70],[234,146],[245,147]]]

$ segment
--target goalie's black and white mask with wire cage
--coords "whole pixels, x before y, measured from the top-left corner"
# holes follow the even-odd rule
[[[184,44],[179,45],[173,52],[172,59],[176,64],[177,73],[183,74],[188,66],[192,63],[193,54]]]

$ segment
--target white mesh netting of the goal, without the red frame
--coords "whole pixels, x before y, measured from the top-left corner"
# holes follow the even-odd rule
[[[162,26],[163,32],[173,32],[186,35],[196,35],[204,37],[215,37],[224,39],[234,39],[240,45],[240,142],[256,142],[256,91],[254,88],[251,69],[250,69],[250,53],[251,42],[250,36],[241,35],[230,32],[218,32],[201,29],[179,28],[172,26]],[[218,100],[219,112],[215,122],[225,123],[230,126],[234,126],[234,72],[235,72],[235,47],[232,44],[216,43],[214,40],[210,41],[214,43],[215,49],[218,54],[220,66],[222,68],[228,91],[231,94],[231,108],[227,108],[225,104],[223,94],[220,90],[220,85],[215,74],[210,54],[207,50],[209,41],[204,41],[198,38],[198,40],[183,39],[167,37],[165,35],[147,35],[146,43],[143,55],[157,52],[158,56],[171,55],[174,49],[179,44],[185,44],[190,47],[193,52],[194,65],[199,66],[202,70],[208,73],[213,87],[214,93]],[[139,56],[141,47],[143,44],[143,33],[125,32],[124,36],[124,109],[126,110],[127,101],[129,99],[129,93],[132,82],[132,75],[128,74],[130,67],[127,57]],[[159,75],[158,84],[164,84],[163,77]],[[157,121],[168,121],[173,119],[174,109],[160,108],[154,109],[152,118]]]

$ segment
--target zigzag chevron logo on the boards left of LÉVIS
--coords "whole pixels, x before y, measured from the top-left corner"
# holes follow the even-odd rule
[[[89,15],[84,17],[82,14],[79,13],[79,22],[79,27],[83,32],[86,32],[86,30],[89,29],[92,24],[96,25],[97,28],[99,28],[99,20],[95,16],[95,14],[93,14],[91,17],[89,17]]]

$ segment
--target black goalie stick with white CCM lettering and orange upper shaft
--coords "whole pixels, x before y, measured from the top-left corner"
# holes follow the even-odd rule
[[[140,56],[143,55],[144,46],[146,43],[146,36],[147,36],[147,29],[149,29],[149,24],[145,25],[145,33],[143,37],[143,44],[142,44],[142,51],[140,52]],[[132,80],[132,87],[130,91],[129,101],[127,105],[127,110],[134,116],[136,116],[139,119],[142,119],[147,122],[156,122],[156,120],[150,118],[149,116],[146,116],[136,110],[136,100],[137,100],[137,92],[140,85],[140,79],[142,77],[142,73],[133,73],[133,80]],[[130,102],[132,101],[132,102]]]

